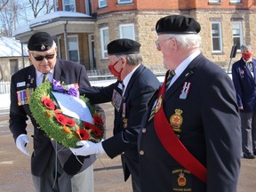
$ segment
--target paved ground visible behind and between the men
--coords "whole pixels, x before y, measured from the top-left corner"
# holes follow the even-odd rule
[[[3,102],[3,100],[1,100]],[[107,114],[107,137],[112,135],[114,111],[110,104],[101,105]],[[7,109],[0,106],[0,192],[34,192],[30,176],[30,158],[14,145],[8,128]],[[29,127],[32,127],[31,125]],[[28,128],[31,135],[32,129]],[[32,141],[32,140],[31,140]],[[28,144],[32,151],[32,143]],[[256,160],[242,159],[238,192],[254,192],[256,188]],[[159,176],[156,176],[159,177]],[[100,156],[94,164],[95,192],[131,192],[131,180],[124,182],[120,158]],[[217,192],[217,191],[216,191]]]

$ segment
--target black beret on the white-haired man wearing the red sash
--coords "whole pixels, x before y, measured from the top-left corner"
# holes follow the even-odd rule
[[[160,34],[197,34],[200,24],[193,18],[183,15],[170,15],[156,22],[156,33]]]

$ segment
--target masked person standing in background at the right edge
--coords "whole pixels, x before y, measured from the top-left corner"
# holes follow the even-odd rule
[[[252,45],[241,45],[242,57],[232,66],[232,80],[241,117],[242,150],[247,159],[256,155],[256,60],[252,59]]]

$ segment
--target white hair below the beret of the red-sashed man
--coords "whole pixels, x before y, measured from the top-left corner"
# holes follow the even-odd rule
[[[169,37],[175,38],[180,46],[185,49],[200,47],[202,41],[201,36],[198,34],[170,35]]]

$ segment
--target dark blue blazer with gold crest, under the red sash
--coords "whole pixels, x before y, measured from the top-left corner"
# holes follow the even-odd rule
[[[190,89],[187,98],[182,99],[180,94],[186,82],[190,83]],[[241,156],[240,118],[234,85],[225,71],[200,54],[164,94],[168,122],[176,109],[182,111],[180,132],[175,133],[206,167],[206,184],[169,155],[156,135],[153,120],[148,122],[156,96],[157,92],[141,123],[138,143],[141,192],[236,192]],[[186,179],[184,186],[178,182],[182,173]]]

